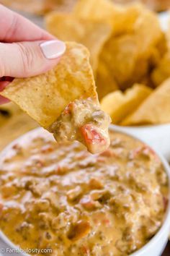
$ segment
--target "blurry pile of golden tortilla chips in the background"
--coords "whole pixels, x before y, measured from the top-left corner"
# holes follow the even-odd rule
[[[170,29],[161,30],[156,13],[79,0],[70,13],[50,12],[45,27],[89,48],[97,93],[114,124],[170,122]]]

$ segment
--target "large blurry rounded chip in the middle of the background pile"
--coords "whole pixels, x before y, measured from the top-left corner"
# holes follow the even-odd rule
[[[149,30],[152,29],[154,21],[154,33],[152,33]],[[163,33],[157,17],[152,12],[146,11],[136,20],[132,33],[116,37],[112,35],[107,40],[99,56],[99,65],[105,66],[109,73],[108,77],[113,77],[119,88],[125,90],[135,82],[141,82],[150,72],[153,48],[158,46],[162,37]]]

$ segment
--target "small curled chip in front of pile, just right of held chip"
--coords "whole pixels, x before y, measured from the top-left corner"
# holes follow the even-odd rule
[[[121,90],[116,90],[114,93],[109,93],[101,101],[101,108],[112,118],[114,124],[119,124],[122,119],[125,119],[130,113],[142,103],[152,92],[151,88],[146,85],[133,85],[122,93]]]

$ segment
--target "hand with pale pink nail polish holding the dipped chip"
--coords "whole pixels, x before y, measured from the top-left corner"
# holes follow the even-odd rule
[[[65,44],[0,4],[0,91],[12,77],[48,71],[60,60]],[[0,104],[7,99],[0,96]]]

